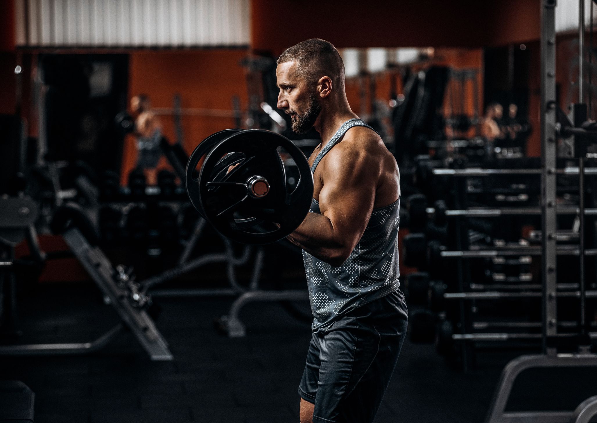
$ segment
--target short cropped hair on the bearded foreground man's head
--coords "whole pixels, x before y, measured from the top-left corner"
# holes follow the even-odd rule
[[[329,76],[334,84],[344,86],[344,62],[333,44],[320,38],[307,39],[288,48],[277,63],[296,61],[298,72],[307,78]]]

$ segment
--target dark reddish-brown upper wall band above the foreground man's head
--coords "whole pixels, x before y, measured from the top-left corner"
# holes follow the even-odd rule
[[[539,0],[253,0],[254,50],[309,38],[344,47],[485,47],[537,39]]]

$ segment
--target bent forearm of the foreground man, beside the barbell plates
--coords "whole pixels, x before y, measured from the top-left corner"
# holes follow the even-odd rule
[[[332,221],[324,215],[307,214],[303,223],[287,239],[326,263],[337,265],[338,261],[344,261],[342,257],[346,246]]]

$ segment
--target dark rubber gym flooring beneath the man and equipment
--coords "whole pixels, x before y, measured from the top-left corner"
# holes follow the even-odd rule
[[[38,423],[298,422],[308,324],[278,304],[257,303],[242,312],[248,336],[227,338],[213,319],[232,299],[156,301],[172,362],[150,361],[124,333],[90,356],[0,357],[0,378],[32,388]],[[90,341],[118,322],[91,283],[42,284],[19,305],[23,342]],[[376,423],[482,422],[501,368],[515,355],[479,354],[476,369],[464,373],[446,365],[433,345],[407,340]],[[515,386],[510,408],[576,407],[597,394],[590,392],[596,372],[566,375],[528,375]],[[564,379],[564,387],[550,387]]]

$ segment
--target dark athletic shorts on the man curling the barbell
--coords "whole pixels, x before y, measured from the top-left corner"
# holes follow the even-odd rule
[[[313,422],[373,421],[398,361],[408,310],[400,290],[313,334],[298,394],[315,404]]]

